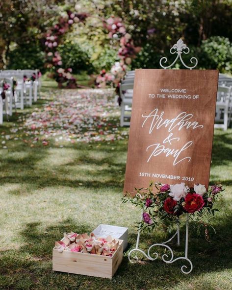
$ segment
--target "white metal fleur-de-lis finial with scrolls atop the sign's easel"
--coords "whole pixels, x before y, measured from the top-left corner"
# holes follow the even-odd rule
[[[189,69],[189,70],[192,70],[192,69],[194,69],[194,68],[197,66],[197,64],[198,64],[198,60],[197,60],[197,58],[196,58],[196,57],[191,57],[191,58],[190,58],[190,62],[191,62],[191,64],[193,64],[193,63],[195,62],[195,65],[193,65],[192,67],[189,67],[189,66],[187,66],[187,65],[183,62],[183,59],[182,59],[182,57],[181,57],[182,52],[185,53],[185,54],[188,54],[189,51],[190,51],[190,49],[186,46],[186,44],[183,43],[182,39],[179,39],[178,42],[177,42],[176,44],[174,44],[174,46],[170,49],[170,53],[171,53],[171,54],[175,54],[175,53],[177,53],[177,57],[176,57],[176,59],[174,60],[174,62],[173,62],[170,66],[166,66],[166,67],[165,67],[165,66],[162,65],[162,61],[163,61],[164,63],[166,63],[168,59],[167,59],[167,57],[162,57],[162,58],[160,59],[160,61],[159,61],[159,64],[160,64],[160,66],[161,66],[163,69],[169,69],[169,68],[171,68],[171,67],[172,67],[172,66],[177,62],[177,60],[180,58],[180,61],[181,61],[182,65],[183,65],[185,68],[187,68],[187,69]]]

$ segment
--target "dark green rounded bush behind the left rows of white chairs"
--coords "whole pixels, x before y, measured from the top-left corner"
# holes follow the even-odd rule
[[[8,53],[7,69],[39,69],[44,72],[45,53],[38,41],[16,45]]]

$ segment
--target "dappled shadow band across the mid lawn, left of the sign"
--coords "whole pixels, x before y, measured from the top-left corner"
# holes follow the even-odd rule
[[[88,189],[122,188],[125,161],[118,159],[125,153],[125,144],[119,146],[119,142],[115,142],[114,146],[120,147],[117,152],[107,148],[108,145],[104,143],[101,144],[100,151],[96,148],[98,144],[90,145],[87,149],[86,144],[72,145],[67,148],[30,148],[19,144],[14,148],[16,154],[9,151],[2,156],[0,184],[27,184],[33,190],[52,186],[76,188],[79,183]],[[65,158],[69,160],[64,165],[43,165],[43,160],[52,154],[52,149],[56,150],[56,153],[60,151],[60,154],[66,154],[65,150],[68,148],[73,149],[72,161],[69,160],[70,156],[64,155],[64,160]],[[102,155],[95,157],[95,152],[102,152]],[[116,154],[119,158],[113,160]],[[83,171],[81,166],[85,165],[91,165],[91,168],[95,169],[87,168]],[[78,172],[82,174],[82,177],[78,177]]]

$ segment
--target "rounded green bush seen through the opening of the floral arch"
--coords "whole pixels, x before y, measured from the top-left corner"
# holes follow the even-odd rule
[[[87,71],[93,73],[94,67],[90,62],[88,51],[83,50],[77,43],[66,40],[57,48],[62,58],[62,67],[71,68],[73,73]]]

